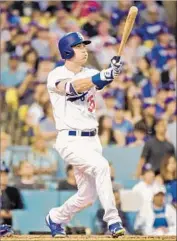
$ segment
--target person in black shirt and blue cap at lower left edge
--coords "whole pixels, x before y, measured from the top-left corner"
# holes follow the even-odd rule
[[[1,210],[0,219],[3,224],[12,225],[12,210],[23,209],[24,205],[19,190],[8,184],[9,169],[1,163],[0,166],[0,183],[1,183]]]

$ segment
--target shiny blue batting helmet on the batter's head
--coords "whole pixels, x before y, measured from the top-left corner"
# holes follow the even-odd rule
[[[72,47],[78,44],[90,44],[90,40],[84,40],[84,37],[79,32],[71,32],[60,39],[58,42],[58,48],[62,59],[71,59],[74,56],[74,50]]]

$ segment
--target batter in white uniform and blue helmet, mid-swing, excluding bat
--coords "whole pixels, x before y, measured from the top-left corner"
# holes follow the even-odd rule
[[[102,156],[95,114],[96,91],[113,81],[121,64],[115,56],[111,67],[101,72],[84,67],[88,59],[86,45],[90,43],[78,32],[61,38],[58,47],[65,64],[52,70],[47,80],[58,130],[55,148],[66,164],[73,165],[78,186],[75,195],[51,209],[46,217],[53,237],[65,237],[64,225],[75,213],[93,204],[97,196],[112,236],[125,233],[115,207],[109,164]]]

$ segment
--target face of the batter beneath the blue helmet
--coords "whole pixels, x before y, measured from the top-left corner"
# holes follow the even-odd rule
[[[85,44],[78,44],[75,47],[73,47],[73,50],[75,53],[73,57],[73,61],[80,65],[85,64],[88,59],[88,52]]]

